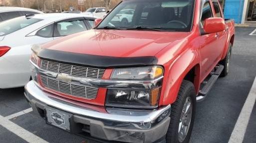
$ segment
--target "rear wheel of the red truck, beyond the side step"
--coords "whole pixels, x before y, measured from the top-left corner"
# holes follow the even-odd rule
[[[220,64],[224,66],[224,70],[221,73],[221,77],[225,77],[229,74],[230,71],[230,60],[231,60],[231,53],[232,53],[232,44],[230,43],[229,50],[227,52],[226,58],[223,59]]]

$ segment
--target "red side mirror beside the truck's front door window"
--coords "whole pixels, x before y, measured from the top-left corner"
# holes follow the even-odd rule
[[[206,33],[221,32],[226,29],[225,20],[223,18],[214,17],[207,18],[204,22],[204,30]]]

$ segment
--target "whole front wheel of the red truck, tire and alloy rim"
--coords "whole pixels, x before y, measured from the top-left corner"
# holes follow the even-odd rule
[[[183,80],[177,100],[172,104],[166,143],[189,143],[196,111],[196,91],[192,82]]]

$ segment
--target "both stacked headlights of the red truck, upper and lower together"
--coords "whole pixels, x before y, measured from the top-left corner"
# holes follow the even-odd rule
[[[114,69],[111,79],[145,80],[148,82],[163,76],[161,66]],[[156,86],[146,88],[108,88],[106,106],[127,108],[156,108],[158,107],[162,79],[157,80]]]

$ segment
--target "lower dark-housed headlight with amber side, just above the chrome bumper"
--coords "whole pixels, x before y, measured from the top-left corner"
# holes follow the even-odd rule
[[[107,90],[106,106],[128,108],[156,108],[161,88]]]

